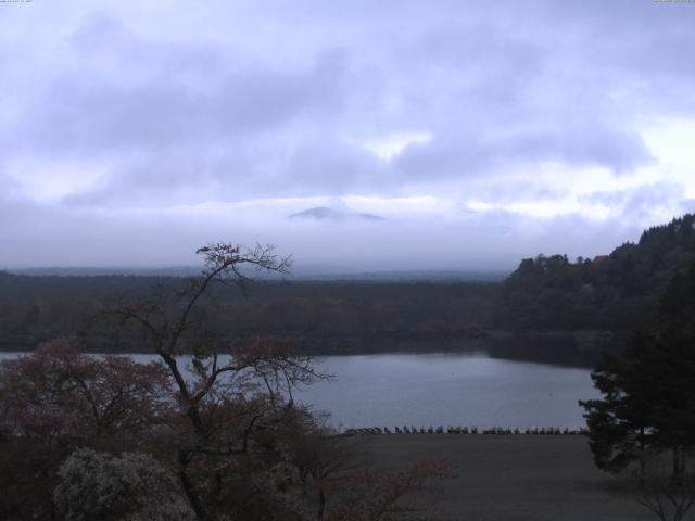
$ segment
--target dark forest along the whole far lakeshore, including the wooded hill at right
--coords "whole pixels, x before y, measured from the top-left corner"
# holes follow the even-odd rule
[[[593,259],[526,258],[498,283],[266,280],[240,292],[213,288],[200,314],[229,342],[262,335],[313,354],[486,339],[514,356],[505,339],[530,338],[547,350],[569,339],[595,355],[616,335],[656,327],[666,288],[695,263],[694,221],[687,214],[649,228],[636,243]],[[0,348],[30,350],[77,335],[98,352],[147,351],[109,310],[186,288],[188,280],[0,272]]]

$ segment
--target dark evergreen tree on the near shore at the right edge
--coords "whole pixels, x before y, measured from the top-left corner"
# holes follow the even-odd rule
[[[605,357],[592,373],[603,399],[580,402],[598,468],[617,472],[647,452],[672,454],[672,480],[682,482],[695,447],[695,348],[666,333],[637,334],[622,356]]]

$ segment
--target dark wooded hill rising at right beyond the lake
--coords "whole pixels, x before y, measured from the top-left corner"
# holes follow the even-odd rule
[[[609,255],[521,262],[501,285],[496,327],[513,330],[653,329],[668,284],[695,264],[695,217],[649,228]]]

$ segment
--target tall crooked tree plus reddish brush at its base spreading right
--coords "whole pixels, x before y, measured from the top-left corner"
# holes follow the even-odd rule
[[[353,461],[355,446],[298,407],[292,396],[295,386],[328,376],[317,372],[308,356],[277,341],[256,339],[235,345],[217,339],[195,315],[204,297],[214,300],[214,285],[243,288],[250,281],[248,268],[286,272],[290,259],[278,257],[271,246],[244,250],[225,243],[202,247],[198,254],[205,268],[187,289],[122,303],[115,309],[124,325],[140,330],[175,382],[177,474],[198,520],[311,519],[306,486],[317,493],[318,519],[325,514],[330,488],[337,500],[329,519],[348,519],[341,512],[362,505],[362,517],[350,519],[376,520],[416,484],[440,472],[439,467],[422,463],[408,472],[330,480]],[[193,354],[188,373],[180,365],[184,353]],[[355,497],[356,482],[370,494]]]

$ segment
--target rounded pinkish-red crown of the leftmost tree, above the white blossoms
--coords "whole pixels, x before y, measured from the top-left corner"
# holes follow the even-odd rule
[[[164,416],[167,392],[162,365],[87,356],[74,340],[47,342],[0,366],[3,425],[66,447],[141,440]]]

